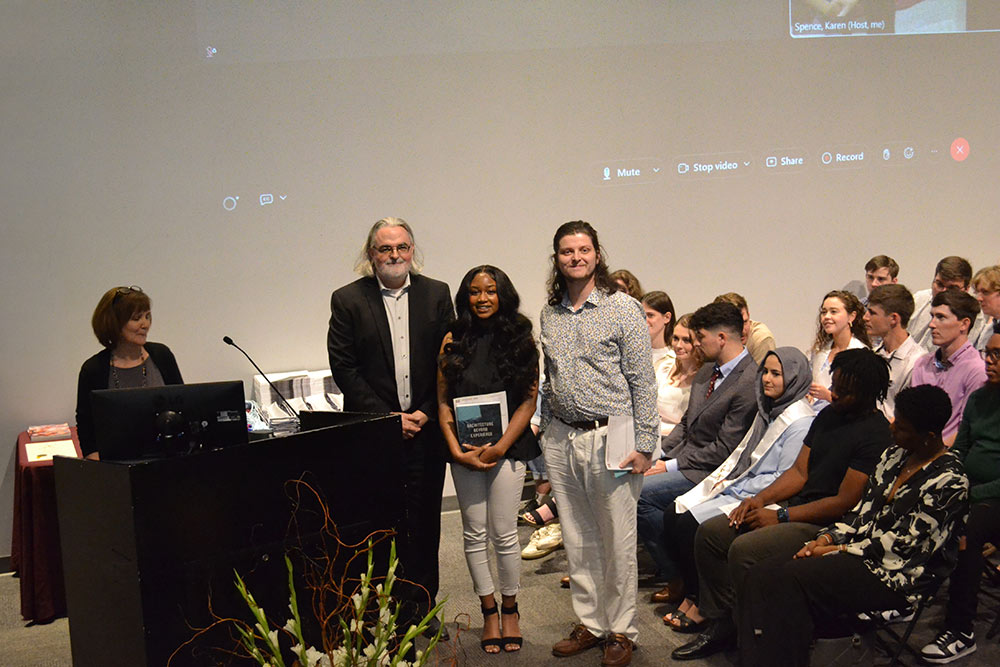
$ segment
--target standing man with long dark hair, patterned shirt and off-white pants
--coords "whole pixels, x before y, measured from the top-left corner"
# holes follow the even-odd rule
[[[615,290],[589,223],[560,226],[552,251],[541,315],[542,448],[578,618],[552,653],[603,643],[603,665],[627,665],[638,634],[636,502],[659,438],[649,332],[639,303]],[[609,433],[609,421],[621,430]],[[634,438],[634,448],[608,460],[618,436]]]

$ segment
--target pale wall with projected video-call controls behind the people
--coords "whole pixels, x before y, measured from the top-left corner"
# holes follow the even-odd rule
[[[872,255],[913,290],[997,263],[997,4],[3,3],[0,537],[15,437],[73,422],[114,285],[198,382],[252,375],[224,335],[325,368],[387,215],[453,291],[505,269],[536,322],[585,219],[679,313],[737,291],[802,348]]]

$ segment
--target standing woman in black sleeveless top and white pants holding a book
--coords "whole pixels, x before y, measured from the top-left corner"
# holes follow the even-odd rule
[[[521,648],[517,507],[525,462],[540,452],[529,427],[538,393],[538,348],[530,320],[518,312],[520,302],[500,269],[484,265],[465,274],[455,295],[458,318],[441,343],[438,364],[438,414],[462,511],[465,558],[482,604],[481,645],[487,653]],[[456,399],[479,406],[480,416],[467,419],[460,410],[456,419]],[[487,540],[497,555],[500,614]]]

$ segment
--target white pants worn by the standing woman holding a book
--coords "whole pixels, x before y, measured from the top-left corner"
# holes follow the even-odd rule
[[[486,471],[452,463],[451,478],[462,510],[465,561],[476,595],[493,595],[487,537],[497,554],[500,594],[517,595],[521,586],[521,544],[517,540],[517,506],[524,488],[524,461],[500,459]]]

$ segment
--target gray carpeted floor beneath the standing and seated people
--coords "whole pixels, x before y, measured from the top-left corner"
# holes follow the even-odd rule
[[[520,529],[521,543],[527,544],[531,529]],[[642,554],[640,554],[642,556]],[[560,549],[545,558],[522,561],[522,589],[518,596],[521,610],[521,629],[525,636],[524,648],[519,653],[486,655],[479,648],[482,615],[479,599],[472,591],[469,573],[462,554],[462,523],[457,511],[442,515],[441,537],[441,594],[447,597],[445,620],[451,641],[442,644],[435,652],[431,664],[448,665],[600,665],[601,653],[593,649],[572,658],[556,659],[551,647],[572,628],[574,617],[569,591],[559,587],[559,578],[566,569],[566,556]],[[649,563],[640,558],[640,574]],[[670,607],[653,605],[646,601],[653,589],[640,589],[639,632],[640,648],[635,653],[633,665],[670,664],[670,651],[687,641],[690,636],[680,635],[665,627],[660,618]],[[0,576],[0,667],[43,667],[69,665],[69,624],[58,619],[47,625],[26,624],[19,614],[18,579]],[[977,625],[979,650],[959,665],[1000,664],[1000,642],[986,639],[985,633],[992,620],[997,603],[985,600]],[[921,620],[911,644],[921,646],[930,641],[944,615],[942,606],[928,610]],[[911,664],[913,660],[909,661]],[[109,662],[109,665],[113,665]],[[728,667],[736,664],[736,654],[713,656],[696,665]]]

